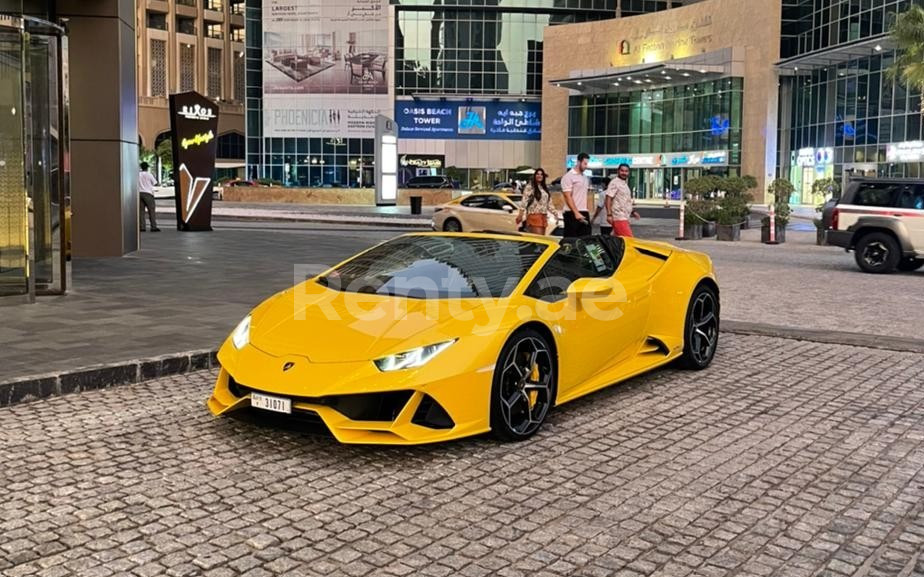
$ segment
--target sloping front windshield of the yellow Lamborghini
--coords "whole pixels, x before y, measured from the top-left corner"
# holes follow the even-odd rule
[[[318,282],[344,292],[419,299],[510,296],[546,245],[475,237],[406,236],[379,245]]]

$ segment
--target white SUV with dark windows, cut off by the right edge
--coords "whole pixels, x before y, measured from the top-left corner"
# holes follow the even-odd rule
[[[853,180],[825,209],[828,244],[854,251],[869,273],[913,271],[924,266],[924,181]]]

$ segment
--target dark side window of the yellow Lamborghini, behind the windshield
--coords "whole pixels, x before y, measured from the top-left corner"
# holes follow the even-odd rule
[[[623,247],[622,239],[613,237],[564,239],[525,294],[554,302],[564,298],[568,287],[579,278],[612,276]]]

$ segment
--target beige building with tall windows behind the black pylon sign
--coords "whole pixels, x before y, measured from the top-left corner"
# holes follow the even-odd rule
[[[243,173],[244,1],[148,0],[136,10],[139,143],[153,151],[169,139],[167,97],[194,90],[219,105],[218,176]]]

